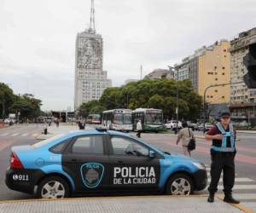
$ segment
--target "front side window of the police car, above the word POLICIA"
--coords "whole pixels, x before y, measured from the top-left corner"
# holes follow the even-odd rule
[[[136,141],[125,137],[112,137],[111,144],[114,155],[148,156],[149,150]]]

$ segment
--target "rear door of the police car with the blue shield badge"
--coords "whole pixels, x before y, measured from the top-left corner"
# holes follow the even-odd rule
[[[96,191],[108,186],[109,158],[106,135],[82,135],[74,138],[62,157],[62,168],[75,183],[75,190]]]

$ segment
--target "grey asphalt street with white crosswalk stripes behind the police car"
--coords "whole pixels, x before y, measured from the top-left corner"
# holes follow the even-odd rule
[[[36,137],[40,135],[42,130],[43,125],[41,124],[21,124],[0,130],[0,200],[34,198],[32,195],[9,190],[9,188],[5,186],[4,176],[5,170],[9,165],[10,147],[37,142]],[[135,135],[135,133],[129,134]],[[195,135],[197,136],[197,145],[196,150],[192,152],[192,157],[201,159],[204,164],[207,164],[207,170],[209,171],[209,147],[211,142],[199,138],[199,136],[202,136],[201,132],[195,132]],[[236,185],[234,187],[234,197],[241,199],[242,204],[253,205],[253,203],[256,203],[255,134],[238,133],[237,136],[240,141],[236,143]],[[177,135],[171,134],[142,134],[142,140],[149,142],[154,145],[154,147],[158,147],[170,153],[182,153],[180,145],[176,145],[176,137]],[[208,181],[209,177],[208,174]],[[222,180],[219,183],[218,189],[218,193],[222,193]],[[198,193],[206,194],[207,189],[197,192],[197,194]]]

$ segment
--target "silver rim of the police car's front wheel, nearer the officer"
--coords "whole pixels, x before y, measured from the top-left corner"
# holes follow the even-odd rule
[[[172,181],[171,192],[174,195],[189,195],[191,186],[185,178],[177,178]]]

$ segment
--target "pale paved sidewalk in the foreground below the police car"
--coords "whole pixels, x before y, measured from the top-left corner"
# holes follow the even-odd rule
[[[227,204],[216,198],[207,203],[207,196],[126,196],[77,199],[34,199],[1,201],[0,213],[48,213],[48,212],[253,212],[241,204]]]

